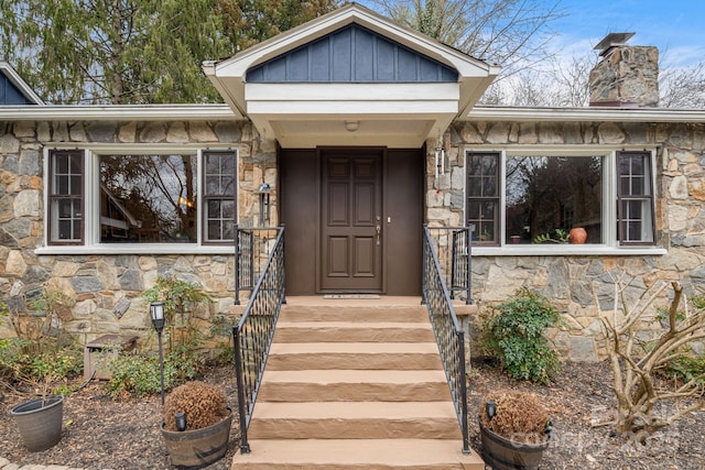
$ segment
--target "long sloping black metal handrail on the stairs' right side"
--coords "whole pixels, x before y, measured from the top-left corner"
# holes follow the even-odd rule
[[[469,238],[468,238],[469,239]],[[469,245],[468,245],[469,249]],[[469,258],[469,251],[468,251]],[[448,381],[455,412],[463,433],[463,453],[470,452],[465,382],[465,331],[460,328],[451,294],[441,270],[434,239],[427,227],[423,238],[423,303],[429,308],[433,332],[438,343],[443,369]]]

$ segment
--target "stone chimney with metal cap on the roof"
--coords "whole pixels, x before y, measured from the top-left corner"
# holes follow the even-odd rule
[[[595,46],[601,61],[590,70],[590,106],[659,106],[659,50],[629,46],[634,33],[610,33]]]

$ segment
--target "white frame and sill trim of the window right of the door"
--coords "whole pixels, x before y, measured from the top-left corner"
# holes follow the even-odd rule
[[[511,145],[511,146],[488,146],[488,145],[465,145],[463,151],[464,174],[467,172],[467,154],[473,152],[497,152],[500,154],[500,228],[499,247],[487,247],[480,244],[473,245],[473,255],[477,256],[565,256],[565,255],[663,255],[668,250],[659,245],[620,245],[617,240],[617,152],[619,151],[647,151],[651,154],[651,187],[654,193],[653,201],[658,200],[657,189],[657,146],[654,145]],[[506,164],[507,156],[517,155],[549,155],[549,156],[595,156],[604,155],[603,165],[603,240],[604,243],[590,244],[540,244],[540,245],[512,245],[506,243]],[[464,183],[463,220],[467,220],[467,174]],[[653,208],[655,212],[655,207]],[[657,217],[657,214],[653,215]],[[657,234],[654,233],[654,237]]]

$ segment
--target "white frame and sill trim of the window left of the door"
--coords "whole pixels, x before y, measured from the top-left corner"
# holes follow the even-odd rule
[[[53,245],[50,244],[50,233],[47,231],[48,217],[48,155],[52,150],[82,150],[84,156],[84,244],[82,245]],[[235,244],[204,244],[203,243],[203,152],[205,151],[230,151],[235,152],[236,161],[239,162],[240,150],[232,145],[197,145],[197,144],[91,144],[91,145],[66,145],[65,143],[46,144],[44,146],[44,245],[34,250],[36,254],[232,254]],[[131,154],[196,154],[198,184],[197,200],[199,201],[197,217],[197,240],[196,243],[100,243],[100,230],[98,220],[100,215],[100,183],[98,157],[100,155],[131,155]],[[236,163],[237,165],[237,163]],[[239,166],[239,165],[238,165]],[[236,166],[237,167],[237,166]],[[239,194],[240,182],[236,170],[236,194]],[[239,223],[239,210],[237,211]]]

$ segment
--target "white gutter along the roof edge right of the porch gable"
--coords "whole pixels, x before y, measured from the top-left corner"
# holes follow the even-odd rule
[[[705,122],[703,109],[675,108],[531,108],[476,106],[462,121],[520,121],[520,122]]]

